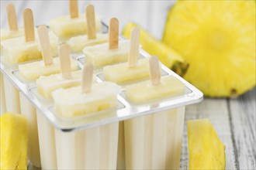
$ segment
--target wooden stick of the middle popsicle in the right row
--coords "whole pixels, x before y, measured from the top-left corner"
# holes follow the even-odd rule
[[[119,41],[119,21],[116,18],[109,22],[109,49],[117,49]]]

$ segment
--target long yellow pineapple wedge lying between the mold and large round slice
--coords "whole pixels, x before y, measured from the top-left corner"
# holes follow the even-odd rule
[[[130,31],[134,27],[140,27],[134,22],[129,22],[123,28],[123,36],[130,39]],[[140,27],[140,44],[142,49],[147,51],[151,56],[158,56],[161,63],[178,73],[184,75],[188,68],[188,63],[174,49],[169,48],[163,42],[158,41],[150,33]]]

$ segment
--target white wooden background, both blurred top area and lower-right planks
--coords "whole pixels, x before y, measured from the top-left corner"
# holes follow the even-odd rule
[[[1,3],[1,28],[7,27],[5,5],[13,2],[22,26],[22,10],[32,8],[36,25],[47,23],[53,17],[68,13],[68,1],[4,1]],[[135,21],[158,39],[164,30],[168,9],[175,1],[90,1],[102,15],[104,22],[117,17],[121,28],[126,22]],[[79,1],[80,11],[84,11],[88,1]],[[234,99],[205,98],[200,104],[186,108],[185,121],[209,118],[221,141],[226,146],[227,169],[256,169],[256,116],[255,88]],[[184,128],[182,141],[181,169],[189,169],[187,151],[187,129]]]

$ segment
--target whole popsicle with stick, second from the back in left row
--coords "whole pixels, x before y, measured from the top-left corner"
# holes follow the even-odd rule
[[[7,39],[2,43],[3,61],[5,63],[22,63],[25,61],[40,59],[42,57],[38,42],[38,36],[34,33],[33,12],[27,8],[23,12],[25,37]],[[57,54],[57,36],[53,32],[50,35],[50,49],[54,56]]]

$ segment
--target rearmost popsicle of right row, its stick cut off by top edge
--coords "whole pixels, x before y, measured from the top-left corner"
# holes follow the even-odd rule
[[[58,37],[77,36],[85,34],[88,31],[85,22],[85,14],[78,13],[78,1],[70,0],[69,3],[70,15],[57,17],[56,19],[52,19],[49,23],[50,29],[52,29]],[[101,16],[95,16],[95,25],[97,31],[101,32]]]

